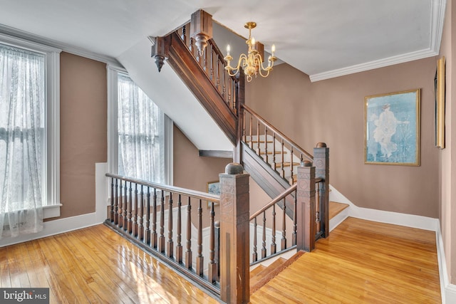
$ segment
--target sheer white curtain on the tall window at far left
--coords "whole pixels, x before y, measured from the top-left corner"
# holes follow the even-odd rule
[[[0,238],[43,229],[45,68],[0,44]]]

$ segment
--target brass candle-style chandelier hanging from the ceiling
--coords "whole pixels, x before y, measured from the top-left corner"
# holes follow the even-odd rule
[[[271,56],[268,58],[268,66],[264,68],[264,60],[261,58],[261,53],[264,53],[264,47],[261,43],[255,42],[255,38],[252,37],[252,28],[255,27],[257,27],[257,23],[252,21],[244,24],[244,28],[249,28],[249,38],[247,41],[245,41],[247,46],[249,46],[249,51],[247,52],[247,55],[242,53],[241,56],[239,56],[239,61],[236,65],[236,68],[233,68],[229,64],[233,60],[232,56],[229,55],[229,45],[227,46],[227,56],[224,58],[224,60],[227,61],[225,70],[228,71],[228,74],[234,76],[239,73],[239,70],[242,68],[248,82],[252,81],[252,76],[257,77],[257,75],[261,75],[261,77],[267,77],[269,75],[269,72],[272,70],[274,61],[277,60],[276,56],[274,56],[276,46],[273,44],[271,47]]]

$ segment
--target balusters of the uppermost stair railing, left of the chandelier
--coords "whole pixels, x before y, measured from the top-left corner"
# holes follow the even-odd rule
[[[201,55],[198,52],[198,48],[195,46],[195,39],[190,37],[188,33],[190,30],[190,23],[185,24],[181,28],[177,29],[177,35],[182,39],[182,42],[187,46],[190,53],[192,53],[193,58],[199,63],[199,66],[204,70],[204,73],[207,75],[207,78],[212,82],[220,96],[223,98],[224,102],[229,106],[229,108],[237,113],[237,83],[239,80],[230,76],[227,71],[224,69],[226,63],[224,61],[224,56],[219,50],[217,44],[215,44],[213,39],[207,41],[207,47],[204,53]]]

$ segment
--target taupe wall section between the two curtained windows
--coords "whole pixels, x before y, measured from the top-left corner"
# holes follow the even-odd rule
[[[95,211],[95,163],[106,162],[106,65],[61,53],[61,218]]]

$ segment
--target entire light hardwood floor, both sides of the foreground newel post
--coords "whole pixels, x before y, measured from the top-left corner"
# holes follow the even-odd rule
[[[51,303],[217,303],[103,225],[0,248],[1,287]],[[435,233],[348,218],[251,303],[440,303]]]

